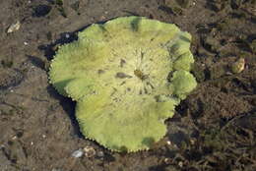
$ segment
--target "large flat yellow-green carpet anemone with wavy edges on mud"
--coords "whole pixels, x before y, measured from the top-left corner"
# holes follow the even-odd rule
[[[164,120],[195,88],[191,35],[175,25],[122,17],[79,32],[51,62],[50,83],[77,101],[84,136],[114,151],[149,149]]]

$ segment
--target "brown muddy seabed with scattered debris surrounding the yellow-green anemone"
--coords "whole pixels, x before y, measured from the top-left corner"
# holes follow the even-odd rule
[[[131,15],[192,34],[199,85],[165,122],[164,139],[127,154],[85,140],[75,103],[48,84],[47,70],[78,30]],[[256,170],[255,0],[1,0],[0,42],[1,171]],[[233,74],[239,58],[245,68]]]

